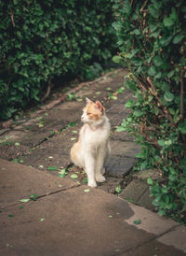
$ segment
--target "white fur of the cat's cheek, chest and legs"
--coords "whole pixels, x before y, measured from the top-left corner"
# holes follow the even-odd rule
[[[89,120],[86,111],[82,115],[82,121],[85,124],[80,130],[81,148],[76,155],[78,160],[75,163],[73,161],[73,164],[84,168],[88,186],[96,187],[96,181],[105,181],[103,164],[110,154],[110,122],[105,114],[102,114],[99,121]]]

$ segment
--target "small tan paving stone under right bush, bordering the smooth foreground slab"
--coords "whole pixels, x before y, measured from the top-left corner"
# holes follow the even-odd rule
[[[147,183],[134,179],[119,196],[125,200],[130,200],[134,204],[138,204],[141,195],[147,190],[149,190]]]

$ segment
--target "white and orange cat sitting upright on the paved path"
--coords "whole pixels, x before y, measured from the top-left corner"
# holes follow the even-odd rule
[[[71,149],[71,159],[73,164],[86,171],[87,185],[97,187],[96,181],[105,181],[103,164],[110,155],[110,122],[100,101],[93,103],[87,98],[81,120],[84,125],[78,142]]]

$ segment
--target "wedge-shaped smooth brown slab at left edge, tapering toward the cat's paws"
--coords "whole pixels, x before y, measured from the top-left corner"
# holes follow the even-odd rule
[[[74,187],[76,184],[63,178],[54,178],[23,164],[0,159],[0,208],[3,209],[31,194],[39,196]]]

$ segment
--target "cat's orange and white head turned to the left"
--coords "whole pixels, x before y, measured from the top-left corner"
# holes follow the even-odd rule
[[[83,115],[81,117],[83,122],[100,124],[104,120],[104,114],[105,109],[100,101],[94,103],[86,98],[86,107],[83,108]]]

